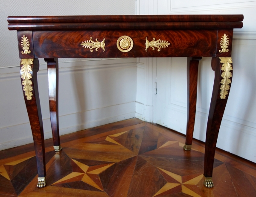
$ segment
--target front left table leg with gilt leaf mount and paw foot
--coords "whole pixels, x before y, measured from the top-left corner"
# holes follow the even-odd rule
[[[21,59],[20,77],[26,109],[35,146],[35,156],[38,166],[38,187],[46,186],[45,182],[45,152],[44,152],[44,130],[41,114],[37,72],[39,70],[38,59]]]

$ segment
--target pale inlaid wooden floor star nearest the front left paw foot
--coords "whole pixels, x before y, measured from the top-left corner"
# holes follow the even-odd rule
[[[88,185],[93,186],[101,191],[104,190],[99,178],[99,174],[108,169],[109,167],[113,166],[115,163],[107,163],[97,166],[87,166],[74,159],[71,160],[73,160],[73,162],[76,163],[76,165],[79,166],[79,168],[81,168],[83,172],[71,172],[67,176],[53,183],[53,186],[55,184],[83,181],[84,183],[87,183]]]

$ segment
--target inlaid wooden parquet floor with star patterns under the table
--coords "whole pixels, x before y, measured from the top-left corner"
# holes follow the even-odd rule
[[[204,145],[138,119],[46,140],[47,186],[37,188],[33,144],[0,151],[0,197],[256,197],[256,164],[216,151],[203,186]],[[25,151],[22,151],[25,150]]]

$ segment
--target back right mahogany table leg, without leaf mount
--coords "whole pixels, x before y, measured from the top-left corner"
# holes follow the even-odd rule
[[[198,83],[198,64],[202,57],[188,57],[187,59],[187,128],[184,150],[190,151],[195,126],[196,96]]]

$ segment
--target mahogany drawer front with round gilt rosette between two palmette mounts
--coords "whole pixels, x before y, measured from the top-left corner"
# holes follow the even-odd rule
[[[233,32],[226,32],[228,31]],[[218,30],[33,31],[33,45],[35,58],[214,57],[217,32]],[[118,49],[118,45],[122,51]],[[231,52],[231,47],[229,48]]]

